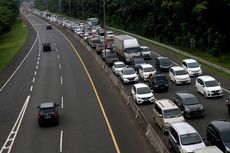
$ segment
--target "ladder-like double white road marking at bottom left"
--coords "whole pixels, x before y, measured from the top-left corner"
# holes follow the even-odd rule
[[[24,103],[24,105],[23,105],[23,107],[22,107],[22,109],[21,109],[21,111],[20,111],[20,113],[18,115],[18,118],[15,121],[14,126],[13,126],[10,134],[8,135],[5,143],[3,144],[3,146],[2,146],[2,148],[0,150],[0,153],[10,153],[10,151],[12,149],[12,146],[14,144],[14,141],[16,139],[16,136],[18,134],[18,130],[19,130],[20,126],[21,126],[22,119],[23,119],[23,117],[25,115],[26,108],[27,108],[27,106],[29,104],[29,100],[30,100],[30,95],[27,96],[26,101],[25,101],[25,103]]]

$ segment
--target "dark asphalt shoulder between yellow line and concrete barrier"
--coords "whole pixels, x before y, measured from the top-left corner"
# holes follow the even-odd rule
[[[119,91],[113,86],[105,72],[78,40],[67,35],[74,42],[74,46],[85,62],[89,73],[93,74],[92,79],[108,114],[121,152],[156,152],[130,110],[123,104]]]

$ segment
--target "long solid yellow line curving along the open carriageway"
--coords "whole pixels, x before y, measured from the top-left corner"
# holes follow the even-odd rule
[[[109,123],[109,119],[108,119],[108,117],[107,117],[107,115],[106,115],[106,112],[105,112],[105,109],[104,109],[104,107],[103,107],[103,105],[102,105],[101,99],[100,99],[100,97],[99,97],[99,95],[98,95],[98,93],[97,93],[97,89],[96,89],[96,87],[95,87],[95,85],[94,85],[94,83],[93,83],[93,80],[92,80],[92,78],[91,78],[91,76],[90,76],[90,74],[89,74],[89,72],[88,72],[88,70],[87,70],[87,68],[86,68],[86,66],[85,66],[85,63],[83,62],[81,56],[80,56],[79,53],[77,52],[77,50],[76,50],[76,48],[74,47],[74,45],[70,42],[70,40],[69,40],[60,30],[58,30],[57,28],[55,28],[55,29],[56,29],[57,31],[59,31],[59,33],[61,33],[62,36],[69,42],[69,44],[71,45],[71,47],[74,49],[75,53],[77,54],[79,60],[81,61],[81,64],[82,64],[82,66],[83,66],[84,69],[85,69],[85,72],[86,72],[86,74],[87,74],[87,76],[88,76],[88,78],[89,78],[89,80],[90,80],[90,83],[91,83],[91,85],[92,85],[92,87],[93,87],[94,93],[95,93],[95,95],[96,95],[96,97],[97,97],[97,102],[98,102],[98,104],[99,104],[99,106],[100,106],[100,108],[101,108],[101,111],[102,111],[102,114],[103,114],[103,116],[104,116],[106,125],[107,125],[107,127],[108,127],[108,129],[109,129],[110,135],[111,135],[112,140],[113,140],[113,144],[114,144],[114,146],[115,146],[115,148],[116,148],[116,152],[117,152],[117,153],[120,153],[120,149],[119,149],[119,147],[118,147],[118,144],[117,144],[116,138],[115,138],[115,136],[114,136],[112,127],[111,127],[111,125],[110,125],[110,123]]]

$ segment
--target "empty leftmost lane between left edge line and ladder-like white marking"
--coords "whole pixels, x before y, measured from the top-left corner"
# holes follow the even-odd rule
[[[23,103],[30,92],[33,79],[33,70],[36,67],[35,55],[39,46],[39,41],[34,45],[34,49],[29,53],[21,67],[14,69],[15,75],[0,92],[0,145],[2,146],[12,129],[14,122],[23,106]]]

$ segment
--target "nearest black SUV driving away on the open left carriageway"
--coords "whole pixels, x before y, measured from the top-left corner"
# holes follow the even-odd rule
[[[59,105],[54,102],[42,103],[38,106],[38,123],[40,126],[49,123],[58,124],[58,106]]]

